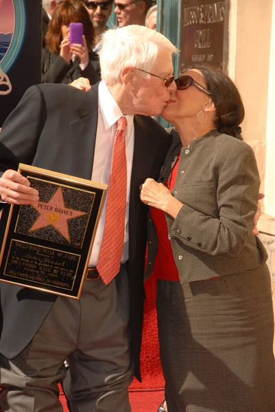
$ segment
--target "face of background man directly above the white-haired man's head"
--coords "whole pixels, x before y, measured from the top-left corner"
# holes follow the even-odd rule
[[[119,27],[141,24],[145,19],[145,2],[140,0],[115,0],[115,13]]]

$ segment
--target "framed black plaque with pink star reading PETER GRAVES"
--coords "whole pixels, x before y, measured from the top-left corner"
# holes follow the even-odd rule
[[[10,207],[0,280],[80,299],[107,185],[24,164],[19,172],[39,201]]]

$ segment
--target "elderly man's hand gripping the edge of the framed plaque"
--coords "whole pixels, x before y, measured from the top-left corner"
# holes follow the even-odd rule
[[[6,170],[0,179],[1,200],[13,205],[29,205],[39,201],[38,190],[30,187],[29,181],[15,170]]]

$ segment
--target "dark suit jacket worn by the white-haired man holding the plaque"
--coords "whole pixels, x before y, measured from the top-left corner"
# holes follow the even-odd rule
[[[64,84],[27,90],[0,133],[0,170],[27,163],[91,179],[98,117],[98,84],[84,93]],[[130,329],[136,376],[143,323],[143,275],[148,209],[139,185],[157,179],[171,137],[151,117],[134,117],[134,157],[129,212]],[[3,222],[2,222],[3,224]],[[13,358],[32,339],[51,310],[55,295],[0,282],[3,329],[0,352]]]

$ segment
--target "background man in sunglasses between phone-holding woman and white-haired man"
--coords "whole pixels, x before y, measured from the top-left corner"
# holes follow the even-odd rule
[[[98,52],[100,48],[100,38],[101,34],[106,32],[108,26],[106,25],[109,16],[112,12],[112,4],[114,0],[98,0],[98,1],[88,1],[85,0],[84,6],[90,14],[93,27],[95,29],[95,45],[93,47],[94,52]]]

